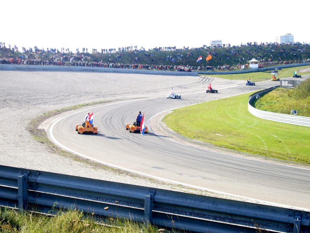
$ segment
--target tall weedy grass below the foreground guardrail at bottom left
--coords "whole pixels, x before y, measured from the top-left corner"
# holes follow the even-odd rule
[[[171,229],[169,229],[171,232]],[[78,210],[59,211],[55,215],[18,212],[15,209],[0,209],[0,232],[2,233],[156,233],[169,232],[153,225],[108,217],[98,221],[94,215],[85,215]],[[184,232],[175,231],[172,232]]]

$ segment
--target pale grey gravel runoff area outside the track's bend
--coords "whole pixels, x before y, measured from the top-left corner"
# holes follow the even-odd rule
[[[76,155],[61,155],[42,141],[33,139],[27,130],[31,120],[48,111],[96,101],[165,97],[172,86],[182,95],[204,92],[210,82],[216,89],[244,84],[244,80],[206,76],[0,71],[0,164],[251,202],[111,169]],[[39,122],[39,128],[47,129],[57,117],[51,117],[43,124]],[[160,117],[154,120],[157,122],[152,122],[152,129],[160,125]]]

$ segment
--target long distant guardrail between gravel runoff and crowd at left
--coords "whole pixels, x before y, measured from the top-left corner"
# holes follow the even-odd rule
[[[0,70],[40,70],[40,71],[87,71],[87,72],[113,72],[113,73],[135,73],[135,74],[153,74],[153,75],[186,75],[197,76],[198,71],[180,72],[180,71],[156,71],[139,70],[124,68],[106,68],[91,66],[48,66],[48,65],[3,65],[0,64]]]

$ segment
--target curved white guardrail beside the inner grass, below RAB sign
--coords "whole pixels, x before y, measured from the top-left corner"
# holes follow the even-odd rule
[[[276,112],[267,112],[263,110],[256,109],[251,105],[255,98],[259,98],[260,95],[266,94],[272,91],[274,88],[278,88],[280,86],[275,86],[272,88],[268,88],[259,92],[255,92],[254,94],[250,95],[249,102],[248,102],[248,110],[251,114],[255,117],[259,117],[262,119],[270,120],[270,121],[277,121],[292,125],[299,125],[299,126],[308,126],[310,127],[310,117],[301,117],[296,115],[288,115]]]

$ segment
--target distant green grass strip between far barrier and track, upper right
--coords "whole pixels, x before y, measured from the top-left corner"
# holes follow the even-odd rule
[[[281,71],[278,71],[279,75],[276,75],[276,78],[286,78],[286,77],[293,77],[293,72],[298,71],[298,69],[308,68],[310,66],[295,66],[290,68],[282,68]],[[307,73],[300,73],[297,72],[299,75],[307,75]],[[216,74],[216,75],[204,75],[204,76],[211,76],[211,77],[218,77],[223,79],[232,79],[232,80],[247,80],[248,78],[251,79],[252,82],[260,82],[264,80],[271,80],[272,75],[270,71],[257,71],[257,72],[249,72],[249,73],[242,73],[242,74]],[[280,83],[279,83],[280,85]]]

